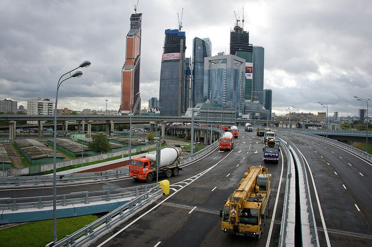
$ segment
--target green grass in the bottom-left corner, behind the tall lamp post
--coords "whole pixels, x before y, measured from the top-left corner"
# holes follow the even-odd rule
[[[57,219],[57,239],[61,240],[97,219],[98,216],[94,215]],[[32,221],[0,230],[0,243],[3,247],[40,247],[52,240],[52,220]]]

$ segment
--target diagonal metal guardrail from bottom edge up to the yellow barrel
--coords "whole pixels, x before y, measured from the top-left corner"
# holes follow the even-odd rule
[[[97,219],[89,225],[86,225],[82,229],[67,235],[57,243],[48,244],[46,247],[88,246],[97,237],[114,228],[123,220],[127,219],[130,215],[133,215],[135,212],[141,210],[148,202],[161,197],[162,189],[160,189],[159,186],[160,184],[156,185],[136,199],[120,206],[109,214]]]

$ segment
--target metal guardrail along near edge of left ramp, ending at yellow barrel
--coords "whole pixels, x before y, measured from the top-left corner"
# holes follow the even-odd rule
[[[115,190],[101,190],[93,192],[70,193],[57,195],[57,206],[66,206],[77,203],[89,204],[93,201],[111,201],[129,197],[138,197],[154,188],[156,184],[134,186]],[[38,208],[53,206],[53,196],[22,197],[0,199],[0,210],[13,210],[25,208]]]

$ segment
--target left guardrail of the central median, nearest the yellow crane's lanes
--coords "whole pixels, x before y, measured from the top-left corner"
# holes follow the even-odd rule
[[[281,142],[284,144],[285,143],[285,140],[282,136],[280,135],[277,135],[277,137],[279,139],[281,139]],[[284,145],[282,145],[283,147]],[[282,148],[283,150],[283,148]],[[287,156],[287,179],[286,179],[286,189],[285,189],[285,193],[284,193],[284,204],[283,204],[283,214],[282,214],[282,221],[281,221],[281,224],[280,224],[280,232],[279,232],[279,247],[282,247],[282,246],[285,246],[285,239],[286,239],[286,236],[287,236],[287,218],[288,218],[288,208],[289,208],[289,201],[290,201],[290,197],[289,197],[289,193],[290,193],[290,189],[291,189],[291,162],[290,162],[290,153],[289,153],[289,150],[287,147],[284,148],[284,152]]]

